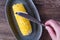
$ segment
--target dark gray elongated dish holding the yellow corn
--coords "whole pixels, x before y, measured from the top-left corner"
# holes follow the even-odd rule
[[[19,31],[16,19],[12,11],[12,5],[16,3],[23,3],[29,15],[40,20],[39,13],[32,2],[32,0],[7,0],[5,6],[6,17],[8,19],[9,25],[16,36],[17,40],[39,40],[42,35],[42,26],[31,22],[32,33],[28,36],[23,36]]]

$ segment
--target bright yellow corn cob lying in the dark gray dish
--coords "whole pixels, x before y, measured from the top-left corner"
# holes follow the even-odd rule
[[[29,35],[32,32],[30,21],[16,14],[16,12],[26,12],[23,4],[14,4],[12,8],[21,33],[23,34],[23,36]]]

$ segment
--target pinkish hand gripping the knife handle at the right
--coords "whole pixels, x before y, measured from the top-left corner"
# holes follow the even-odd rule
[[[60,22],[51,19],[45,25],[52,40],[60,40]]]

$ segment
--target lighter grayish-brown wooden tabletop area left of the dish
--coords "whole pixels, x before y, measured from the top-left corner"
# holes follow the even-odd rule
[[[5,17],[6,0],[0,0],[0,40],[16,40]]]

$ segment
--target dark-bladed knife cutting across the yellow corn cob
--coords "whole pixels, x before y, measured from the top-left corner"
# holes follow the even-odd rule
[[[39,20],[37,20],[36,18],[28,15],[28,13],[17,12],[16,14],[18,14],[18,15],[24,17],[24,18],[27,18],[28,20],[30,20],[30,21],[32,21],[32,22],[34,22],[34,23],[37,23],[37,24],[42,25],[42,26],[45,26],[43,23],[41,23],[41,22],[40,22]]]

